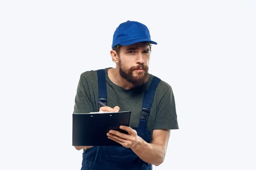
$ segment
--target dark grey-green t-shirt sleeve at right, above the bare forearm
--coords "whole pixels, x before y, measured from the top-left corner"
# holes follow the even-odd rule
[[[179,129],[174,94],[169,85],[157,107],[154,129]]]

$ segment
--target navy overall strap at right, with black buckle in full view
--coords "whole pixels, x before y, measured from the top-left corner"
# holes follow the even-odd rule
[[[157,90],[157,86],[160,81],[161,81],[161,79],[154,76],[149,85],[148,90],[145,90],[145,92],[144,92],[142,111],[141,111],[140,123],[139,123],[139,127],[141,127],[141,128],[145,129],[147,127],[150,109],[152,106],[152,102],[154,100],[154,95]]]

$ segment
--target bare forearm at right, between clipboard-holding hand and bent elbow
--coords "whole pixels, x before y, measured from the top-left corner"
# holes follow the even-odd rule
[[[138,145],[131,149],[140,159],[149,164],[154,164],[155,166],[163,163],[166,155],[166,150],[163,145],[147,143],[142,138],[140,138]]]

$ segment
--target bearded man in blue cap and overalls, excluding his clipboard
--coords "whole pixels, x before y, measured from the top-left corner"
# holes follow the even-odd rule
[[[171,86],[148,73],[151,44],[157,44],[150,38],[144,24],[121,23],[110,52],[116,68],[81,74],[74,113],[131,111],[130,127],[120,126],[128,134],[106,134],[122,146],[75,146],[84,150],[81,170],[151,170],[164,161],[170,130],[179,127]]]

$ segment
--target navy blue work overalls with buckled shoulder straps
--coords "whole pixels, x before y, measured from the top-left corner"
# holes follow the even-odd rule
[[[107,103],[107,85],[105,70],[97,70],[99,101]],[[132,127],[137,135],[150,142],[151,132],[146,130],[148,116],[154,94],[160,79],[153,77],[147,91],[144,92],[142,112],[138,127]],[[84,150],[81,170],[152,170],[152,165],[140,159],[131,148],[122,146],[94,146]]]

